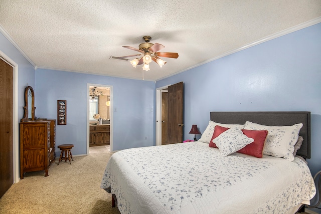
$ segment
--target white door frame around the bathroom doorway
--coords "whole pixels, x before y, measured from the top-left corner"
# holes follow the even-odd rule
[[[109,95],[110,95],[110,106],[109,106],[109,115],[110,115],[110,143],[109,143],[109,150],[113,151],[113,89],[110,85],[101,85],[101,84],[93,84],[93,83],[87,83],[87,155],[89,154],[89,86],[96,86],[96,87],[108,87],[109,88]]]

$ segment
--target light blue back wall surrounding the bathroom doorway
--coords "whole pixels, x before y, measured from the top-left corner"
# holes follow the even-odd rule
[[[86,154],[87,83],[113,87],[113,150],[155,145],[154,82],[38,69],[37,116],[57,119],[57,100],[67,100],[67,125],[56,126],[56,145],[72,143],[73,154]]]

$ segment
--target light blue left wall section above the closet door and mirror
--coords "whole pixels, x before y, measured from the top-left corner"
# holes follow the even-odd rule
[[[0,51],[18,64],[18,119],[20,122],[24,116],[25,88],[31,86],[35,89],[35,68],[2,33],[0,33]]]

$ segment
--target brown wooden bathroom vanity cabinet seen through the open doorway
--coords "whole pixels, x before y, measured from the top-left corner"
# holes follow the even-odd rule
[[[110,144],[110,125],[89,126],[89,146]]]

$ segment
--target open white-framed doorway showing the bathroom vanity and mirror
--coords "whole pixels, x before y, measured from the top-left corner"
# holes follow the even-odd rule
[[[112,86],[87,84],[87,154],[89,147],[109,145],[113,151]]]

